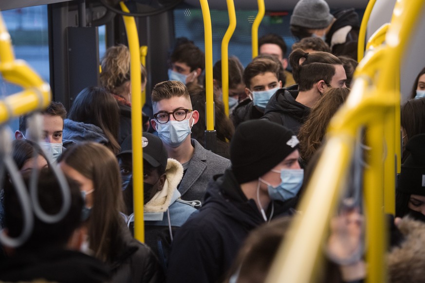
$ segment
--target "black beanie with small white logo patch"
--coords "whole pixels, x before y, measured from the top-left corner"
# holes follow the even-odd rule
[[[240,184],[269,172],[298,148],[296,135],[267,120],[241,123],[230,142],[232,171]]]

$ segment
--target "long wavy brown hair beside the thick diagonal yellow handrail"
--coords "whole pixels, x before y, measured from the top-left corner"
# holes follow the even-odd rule
[[[312,108],[298,132],[299,155],[307,163],[322,143],[331,118],[347,99],[350,88],[329,88]]]

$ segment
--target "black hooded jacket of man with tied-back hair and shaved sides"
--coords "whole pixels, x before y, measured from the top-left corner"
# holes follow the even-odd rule
[[[310,114],[307,107],[295,99],[298,96],[298,85],[289,88],[280,88],[270,98],[261,119],[266,119],[291,129],[296,135],[299,127]]]

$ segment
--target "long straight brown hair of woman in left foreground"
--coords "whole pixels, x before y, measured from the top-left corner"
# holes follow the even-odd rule
[[[83,142],[66,150],[61,162],[93,181],[93,207],[88,220],[90,248],[94,256],[109,262],[121,242],[118,232],[124,201],[118,161],[104,145]]]

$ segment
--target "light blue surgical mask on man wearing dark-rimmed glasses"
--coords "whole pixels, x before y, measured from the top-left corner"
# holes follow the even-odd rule
[[[177,147],[185,141],[187,136],[191,133],[191,128],[195,120],[192,121],[192,125],[189,124],[189,120],[192,117],[193,112],[190,114],[189,119],[183,121],[168,121],[166,124],[157,123],[158,136],[171,147]]]

